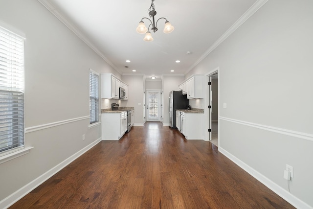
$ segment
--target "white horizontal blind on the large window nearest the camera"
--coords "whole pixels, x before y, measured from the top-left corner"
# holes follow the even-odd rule
[[[24,38],[0,27],[0,155],[24,146]]]

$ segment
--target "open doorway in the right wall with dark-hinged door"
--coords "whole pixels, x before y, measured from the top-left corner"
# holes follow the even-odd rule
[[[207,111],[205,111],[205,121],[207,127],[206,139],[214,145],[219,146],[219,68],[206,74],[207,80]]]

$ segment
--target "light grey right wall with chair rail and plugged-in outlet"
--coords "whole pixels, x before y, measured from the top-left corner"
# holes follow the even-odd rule
[[[269,0],[186,75],[220,67],[219,151],[298,208],[313,207],[312,11]]]

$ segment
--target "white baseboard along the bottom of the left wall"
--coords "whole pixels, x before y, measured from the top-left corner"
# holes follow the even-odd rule
[[[31,181],[27,185],[23,186],[19,190],[15,191],[14,193],[9,195],[8,197],[6,197],[3,200],[1,200],[0,201],[0,208],[1,209],[6,209],[6,208],[9,208],[10,206],[12,206],[14,203],[16,203],[17,201],[22,199],[22,197],[24,197],[26,194],[31,192],[37,186],[40,186],[41,184],[43,184],[46,180],[48,180],[54,174],[56,174],[57,172],[62,170],[69,163],[71,163],[74,160],[76,160],[79,156],[81,156],[82,154],[87,152],[89,149],[91,149],[94,145],[96,145],[100,141],[101,141],[101,138],[95,140],[94,142],[92,142],[88,146],[86,146],[83,149],[79,150],[77,153],[73,154],[72,156],[70,156],[69,158],[64,160],[63,162],[59,163],[58,165],[54,166],[53,168],[51,168],[50,170],[45,172],[43,175],[39,176],[35,180]]]

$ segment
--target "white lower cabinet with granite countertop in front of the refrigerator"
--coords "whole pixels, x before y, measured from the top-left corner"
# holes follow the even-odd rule
[[[178,116],[176,112],[176,116]],[[179,128],[186,139],[204,139],[204,114],[180,112]],[[176,122],[177,124],[177,122]]]

